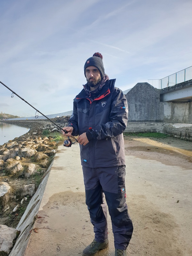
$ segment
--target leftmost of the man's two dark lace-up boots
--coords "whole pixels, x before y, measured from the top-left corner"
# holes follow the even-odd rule
[[[83,256],[90,256],[95,255],[99,250],[106,249],[109,246],[108,239],[105,240],[103,243],[99,243],[95,241],[95,239],[92,241],[91,244],[89,244],[84,250],[83,250]]]

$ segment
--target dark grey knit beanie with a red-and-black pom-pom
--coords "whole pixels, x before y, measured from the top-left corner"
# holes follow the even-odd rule
[[[103,67],[103,56],[99,52],[94,53],[93,57],[86,60],[84,65],[84,74],[85,74],[85,69],[90,66],[94,66],[98,68],[101,73],[101,78],[103,78],[103,76],[105,75],[105,69]]]

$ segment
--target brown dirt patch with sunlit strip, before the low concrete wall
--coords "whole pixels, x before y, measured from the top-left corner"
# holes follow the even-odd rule
[[[172,137],[164,139],[124,137],[125,155],[152,159],[166,165],[177,165],[191,169],[192,142]]]

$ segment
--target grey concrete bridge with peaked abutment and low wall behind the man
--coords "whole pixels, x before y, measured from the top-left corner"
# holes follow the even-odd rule
[[[164,132],[192,140],[192,80],[164,89],[138,83],[126,98],[127,132]]]

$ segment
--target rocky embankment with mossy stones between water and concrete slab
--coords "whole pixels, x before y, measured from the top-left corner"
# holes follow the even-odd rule
[[[64,127],[68,119],[66,116],[53,121]],[[57,149],[52,132],[60,130],[52,122],[43,120],[4,122],[27,126],[30,131],[0,146],[0,255],[3,256],[10,253],[17,237],[23,236],[21,231],[25,228],[21,230],[18,223],[38,188],[41,193],[38,192],[35,204],[42,199],[46,176]],[[34,216],[29,218],[31,227]]]

